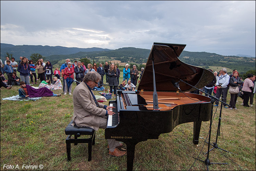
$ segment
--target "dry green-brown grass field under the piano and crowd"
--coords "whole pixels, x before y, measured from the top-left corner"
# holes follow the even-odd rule
[[[75,86],[73,83],[72,92]],[[103,129],[96,132],[92,161],[87,161],[87,144],[72,144],[71,161],[67,162],[64,130],[73,117],[72,95],[43,97],[37,101],[2,100],[17,95],[18,89],[14,86],[11,90],[1,90],[1,170],[126,170],[126,156],[115,158],[108,155]],[[54,91],[56,94],[61,92]],[[210,162],[228,164],[212,164],[209,170],[255,170],[255,99],[253,107],[243,107],[240,105],[242,99],[238,98],[238,110],[222,108],[217,144],[232,154],[213,149],[209,153]],[[229,100],[228,94],[227,102]],[[216,139],[219,113],[220,107],[214,107],[211,142]],[[192,143],[193,123],[181,124],[172,132],[161,134],[158,140],[138,143],[133,169],[206,170],[206,165],[193,157],[203,161],[207,158],[204,153],[208,144],[204,139],[208,137],[209,123],[202,123],[200,137],[203,139],[199,139],[198,146]],[[42,165],[44,168],[25,169],[23,165]],[[7,166],[14,168],[8,169]]]

